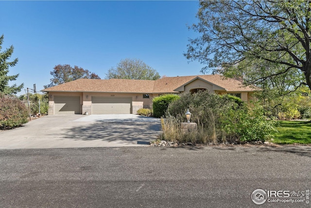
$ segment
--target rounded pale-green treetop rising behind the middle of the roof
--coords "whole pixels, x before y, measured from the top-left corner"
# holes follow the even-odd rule
[[[112,67],[106,74],[106,79],[144,79],[156,80],[160,78],[158,72],[139,59],[126,58]]]

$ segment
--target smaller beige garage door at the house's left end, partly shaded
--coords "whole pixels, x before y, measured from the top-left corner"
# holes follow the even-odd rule
[[[55,114],[81,114],[80,96],[54,96]]]

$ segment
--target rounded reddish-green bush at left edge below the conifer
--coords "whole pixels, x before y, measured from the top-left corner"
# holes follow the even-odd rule
[[[27,122],[28,111],[20,100],[0,95],[0,129],[12,129]]]

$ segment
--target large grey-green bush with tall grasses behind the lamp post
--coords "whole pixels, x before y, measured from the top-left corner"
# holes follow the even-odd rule
[[[218,140],[223,140],[224,131],[220,126],[221,112],[238,108],[238,104],[231,97],[212,95],[207,91],[184,93],[180,95],[180,99],[169,105],[168,113],[179,118],[179,122],[186,122],[187,108],[191,112],[191,121],[198,124],[198,130],[183,134],[180,140],[216,144]]]

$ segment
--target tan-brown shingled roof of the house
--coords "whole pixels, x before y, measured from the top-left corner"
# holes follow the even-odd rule
[[[164,77],[158,80],[135,79],[77,79],[44,89],[44,92],[111,92],[111,93],[176,93],[174,90],[197,76]],[[198,75],[226,91],[254,91],[242,87],[240,81],[220,75]]]

